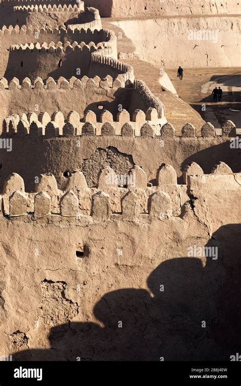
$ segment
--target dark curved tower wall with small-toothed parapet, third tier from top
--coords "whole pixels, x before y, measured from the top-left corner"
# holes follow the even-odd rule
[[[90,30],[88,31],[91,33]],[[75,35],[78,35],[78,32]],[[75,75],[93,74],[94,70],[96,72],[93,76],[100,75],[104,78],[106,75],[113,76],[115,74],[116,77],[118,74],[125,74],[126,80],[133,80],[133,75],[128,75],[131,67],[114,60],[117,57],[114,34],[107,35],[108,37],[104,38],[106,41],[97,43],[97,45],[93,41],[89,44],[73,42],[72,45],[69,41],[64,45],[62,42],[12,45],[9,50],[8,65],[4,77],[10,80],[12,74],[15,74],[20,81],[25,77],[34,80],[37,76],[44,80],[48,76],[52,76],[54,79],[65,76],[70,79],[71,76]],[[94,51],[98,52],[98,56],[92,55]],[[107,60],[108,57],[113,58],[111,59],[112,62]],[[91,62],[93,62],[94,69],[93,66],[90,68]],[[104,72],[103,67],[106,68]],[[110,71],[104,74],[108,69]]]

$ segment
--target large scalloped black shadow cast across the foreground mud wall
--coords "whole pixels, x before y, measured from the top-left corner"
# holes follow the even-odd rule
[[[166,260],[147,278],[153,297],[134,288],[107,293],[94,307],[103,328],[53,327],[51,349],[20,351],[14,360],[228,361],[241,343],[240,237],[240,224],[221,227],[204,267],[198,257]]]

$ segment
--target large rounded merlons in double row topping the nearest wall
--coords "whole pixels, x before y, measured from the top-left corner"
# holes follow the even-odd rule
[[[200,167],[198,170],[198,165],[195,165],[196,169],[188,167],[188,194],[193,195],[195,189],[215,190],[220,180],[226,181],[224,189],[225,186],[229,186],[230,191],[240,189],[240,183],[236,182],[241,181],[241,173],[232,173],[227,165],[221,164],[221,167],[216,165],[209,175],[204,175]],[[156,186],[147,184],[146,174],[138,166],[126,176],[119,176],[110,167],[105,167],[100,171],[96,187],[88,188],[83,173],[75,170],[66,180],[64,189],[58,188],[52,174],[41,174],[34,192],[28,194],[23,179],[12,173],[5,181],[1,195],[2,214],[9,219],[25,219],[26,216],[30,220],[60,215],[74,221],[82,216],[103,221],[114,215],[116,220],[138,220],[149,216],[148,220],[154,217],[163,221],[173,216],[178,186],[185,189],[184,185],[177,185],[177,175],[172,166],[165,164],[157,171]],[[170,189],[171,197],[167,193]],[[187,207],[187,202],[183,202],[182,207],[178,216],[185,218],[190,207]]]

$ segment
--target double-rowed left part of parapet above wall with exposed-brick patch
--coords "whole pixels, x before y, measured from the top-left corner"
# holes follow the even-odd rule
[[[88,87],[88,85],[87,85]],[[14,114],[6,117],[3,123],[3,135],[29,134],[38,137],[58,136],[141,136],[153,138],[160,135],[162,120],[158,118],[157,110],[149,108],[146,113],[137,109],[132,116],[125,109],[119,111],[117,120],[108,110],[103,110],[100,121],[94,111],[87,110],[83,119],[76,111],[70,111],[66,116],[61,111],[36,114]]]

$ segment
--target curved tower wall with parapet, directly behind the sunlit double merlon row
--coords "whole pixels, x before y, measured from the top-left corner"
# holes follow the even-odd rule
[[[155,121],[156,124],[166,123],[162,102],[150,92],[144,82],[138,81],[142,85],[139,89],[136,84],[127,81],[125,85],[123,75],[118,75],[115,80],[109,75],[104,79],[99,76],[93,79],[84,76],[81,80],[73,76],[69,81],[60,77],[57,82],[53,78],[47,78],[46,84],[39,77],[33,84],[29,78],[25,78],[21,85],[17,78],[9,83],[2,78],[0,92],[3,104],[0,119],[3,121],[8,115],[18,114],[19,111],[35,111],[38,115],[43,111],[51,116],[61,108],[65,117],[74,110],[80,120],[84,119],[88,110],[92,110],[99,122],[105,110],[112,114],[112,120],[117,120],[121,110],[127,110],[127,122],[130,116],[134,117],[136,110],[143,110],[143,114],[146,114],[149,108],[153,108],[157,110],[156,117],[154,119],[150,115],[147,120]],[[15,97],[16,91],[19,98]]]

